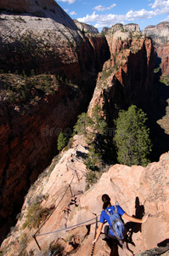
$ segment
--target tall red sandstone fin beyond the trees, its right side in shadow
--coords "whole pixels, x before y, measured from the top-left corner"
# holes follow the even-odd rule
[[[121,27],[117,30],[117,26]],[[154,48],[151,38],[140,33],[123,31],[123,26],[111,27],[105,37],[110,46],[110,60],[99,73],[88,113],[100,104],[111,124],[119,109],[136,104],[146,110],[154,99]]]

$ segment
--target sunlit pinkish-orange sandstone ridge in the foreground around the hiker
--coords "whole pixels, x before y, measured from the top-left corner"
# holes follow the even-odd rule
[[[36,197],[41,199],[42,207],[56,207],[38,232],[41,236],[37,236],[37,241],[42,253],[47,253],[49,246],[57,243],[65,247],[65,251],[71,251],[72,255],[91,255],[95,232],[93,213],[98,214],[99,218],[102,211],[101,195],[104,193],[110,195],[112,204],[118,201],[129,215],[142,218],[144,213],[149,212],[149,218],[145,224],[127,224],[131,230],[127,235],[127,246],[123,249],[115,243],[109,247],[101,235],[94,247],[94,255],[137,255],[157,247],[157,244],[167,239],[169,153],[161,155],[159,162],[151,163],[147,167],[110,166],[99,182],[85,192],[87,170],[83,157],[87,154],[86,148],[87,144],[82,137],[74,137],[72,148],[60,155],[58,162],[54,163],[53,172],[48,169],[37,179],[25,197],[16,228],[3,241],[1,249],[5,255],[18,255],[23,247],[23,237],[26,237],[26,252],[33,251],[38,255],[39,248],[31,237],[37,230],[22,228],[27,210]],[[84,224],[76,226],[81,223]],[[89,226],[85,227],[86,224]],[[70,230],[64,230],[70,226]],[[42,236],[44,233],[46,235]]]

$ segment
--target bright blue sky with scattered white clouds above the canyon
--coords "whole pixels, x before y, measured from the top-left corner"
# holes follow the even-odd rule
[[[115,23],[137,23],[141,30],[161,21],[169,21],[169,0],[59,0],[59,6],[71,19],[99,29]]]

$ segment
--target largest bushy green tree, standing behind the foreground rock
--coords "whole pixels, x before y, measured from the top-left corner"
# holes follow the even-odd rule
[[[146,114],[142,109],[132,105],[127,111],[121,110],[115,120],[115,145],[117,160],[127,166],[149,163],[151,151],[149,128],[145,125]]]

